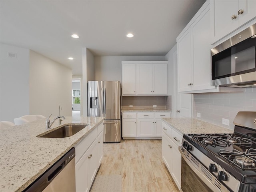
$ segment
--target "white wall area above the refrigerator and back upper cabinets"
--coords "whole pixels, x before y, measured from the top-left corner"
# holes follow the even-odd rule
[[[165,61],[165,56],[95,56],[95,80],[122,82],[122,61]]]

